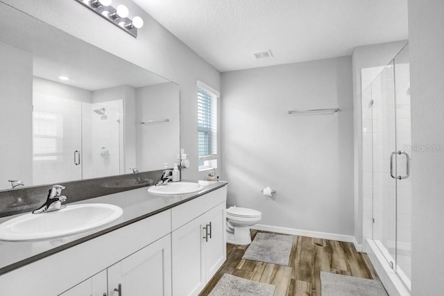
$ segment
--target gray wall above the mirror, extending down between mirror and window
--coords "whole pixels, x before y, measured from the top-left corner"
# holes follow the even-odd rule
[[[178,83],[181,99],[180,143],[189,154],[191,162],[191,167],[183,171],[182,176],[196,179],[206,175],[199,174],[197,166],[196,81],[201,80],[219,90],[221,77],[219,71],[130,0],[116,0],[112,5],[115,7],[119,3],[124,3],[130,10],[130,17],[139,15],[144,19],[144,27],[139,30],[137,39],[99,15],[95,15],[77,1],[2,1]]]

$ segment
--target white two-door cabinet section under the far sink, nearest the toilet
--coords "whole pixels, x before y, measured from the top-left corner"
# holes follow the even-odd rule
[[[225,200],[223,187],[172,209],[173,295],[198,295],[225,262]]]

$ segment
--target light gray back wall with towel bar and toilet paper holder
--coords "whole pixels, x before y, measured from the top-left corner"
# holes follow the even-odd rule
[[[352,59],[222,73],[228,203],[262,224],[353,234]],[[336,114],[288,110],[339,107]],[[277,193],[265,198],[261,189]]]

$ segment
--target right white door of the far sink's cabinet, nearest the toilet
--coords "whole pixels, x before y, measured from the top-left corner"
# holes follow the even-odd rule
[[[210,281],[216,271],[227,259],[225,202],[219,204],[210,211],[207,211],[204,218],[204,224],[209,228],[208,241],[204,239],[204,250],[205,277],[207,281]],[[203,236],[205,236],[205,231]]]

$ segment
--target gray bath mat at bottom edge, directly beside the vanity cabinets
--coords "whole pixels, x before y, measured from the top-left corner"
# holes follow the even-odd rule
[[[273,296],[275,285],[262,284],[224,273],[209,296]]]

